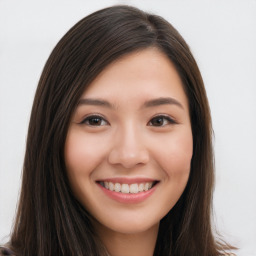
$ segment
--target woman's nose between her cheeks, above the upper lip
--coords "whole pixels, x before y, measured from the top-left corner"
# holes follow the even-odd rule
[[[131,169],[149,161],[149,152],[143,136],[135,128],[126,127],[119,131],[113,140],[113,146],[109,153],[109,163],[122,165],[126,169]]]

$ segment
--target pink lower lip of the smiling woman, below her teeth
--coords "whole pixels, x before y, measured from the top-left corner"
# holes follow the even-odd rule
[[[140,203],[145,201],[148,197],[150,197],[155,192],[157,184],[153,188],[149,189],[148,191],[139,192],[136,194],[133,194],[133,193],[126,194],[121,192],[115,192],[102,187],[100,184],[98,184],[98,186],[102,189],[105,195],[107,195],[111,199],[114,199],[120,203],[127,204],[127,203]]]

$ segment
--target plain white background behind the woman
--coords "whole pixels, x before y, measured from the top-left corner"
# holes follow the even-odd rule
[[[216,227],[239,256],[256,255],[256,0],[0,0],[0,244],[15,213],[44,63],[77,21],[120,3],[163,16],[190,45],[215,131]]]

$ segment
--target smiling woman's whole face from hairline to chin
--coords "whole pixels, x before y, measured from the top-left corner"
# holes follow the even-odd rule
[[[65,161],[71,188],[102,229],[146,231],[187,184],[193,138],[174,65],[154,48],[107,66],[81,95]]]

